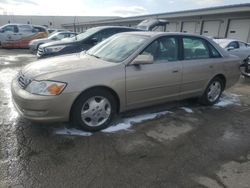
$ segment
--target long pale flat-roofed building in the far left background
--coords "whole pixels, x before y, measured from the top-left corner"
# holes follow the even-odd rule
[[[92,22],[116,18],[112,16],[29,16],[29,15],[0,15],[0,25],[22,23],[43,25],[49,28],[62,28],[65,23]]]

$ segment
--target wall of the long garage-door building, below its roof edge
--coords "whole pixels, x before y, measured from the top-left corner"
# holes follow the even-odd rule
[[[102,25],[119,25],[119,26],[129,26],[135,27],[144,19],[148,18],[161,18],[167,19],[170,21],[170,24],[166,27],[167,31],[170,32],[189,32],[194,34],[202,34],[211,37],[225,38],[225,37],[234,37],[245,42],[250,42],[250,11],[244,12],[234,12],[234,13],[224,13],[224,14],[211,14],[211,15],[202,15],[197,16],[181,16],[181,17],[171,17],[169,15],[161,14],[160,16],[148,16],[148,17],[135,17],[126,19],[114,19],[106,20],[101,22],[85,22],[76,25],[76,28],[86,30],[91,27],[102,26]],[[235,26],[235,34],[229,33],[230,24],[235,22],[234,20],[242,22],[241,26]],[[249,24],[246,21],[249,20]],[[235,24],[234,24],[235,25]],[[248,26],[246,26],[248,25]],[[73,25],[64,25],[67,29],[73,29]],[[239,28],[237,28],[239,27]],[[157,29],[161,31],[161,28]],[[244,31],[243,31],[244,30]],[[211,35],[209,35],[211,33]],[[244,36],[240,36],[244,34]],[[237,35],[238,34],[238,35]],[[248,37],[246,37],[248,35]]]

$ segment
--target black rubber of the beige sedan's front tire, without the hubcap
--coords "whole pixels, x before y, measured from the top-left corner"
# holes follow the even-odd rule
[[[87,125],[83,121],[81,117],[81,111],[85,102],[87,102],[89,99],[95,96],[104,97],[109,101],[111,106],[111,113],[108,119],[103,124],[93,127]],[[107,128],[114,119],[116,113],[117,113],[116,100],[115,97],[109,91],[105,89],[91,89],[89,91],[82,93],[74,102],[71,109],[71,123],[73,124],[73,126],[79,127],[84,131],[96,132]]]

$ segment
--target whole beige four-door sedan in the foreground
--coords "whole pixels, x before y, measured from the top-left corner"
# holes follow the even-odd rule
[[[191,97],[212,105],[238,81],[239,64],[203,36],[127,32],[86,53],[27,65],[12,82],[12,96],[27,119],[71,120],[98,131],[135,108]]]

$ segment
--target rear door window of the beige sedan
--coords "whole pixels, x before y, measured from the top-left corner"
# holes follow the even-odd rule
[[[183,48],[185,60],[209,58],[209,49],[203,39],[184,37]]]

